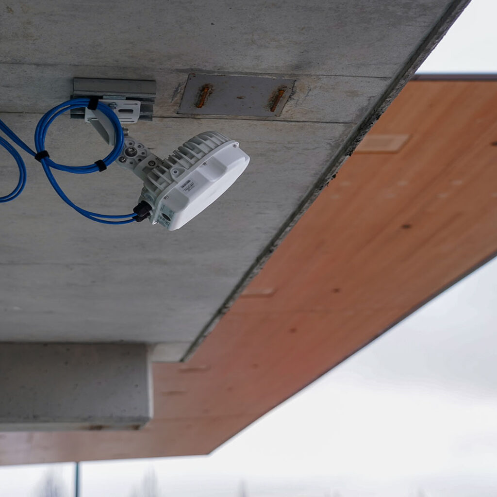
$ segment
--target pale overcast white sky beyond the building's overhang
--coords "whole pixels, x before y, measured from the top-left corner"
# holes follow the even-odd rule
[[[497,0],[473,0],[418,73],[497,73]],[[497,260],[208,457],[84,463],[82,497],[497,496]],[[50,468],[0,467],[0,497]],[[424,493],[420,493],[420,491]]]

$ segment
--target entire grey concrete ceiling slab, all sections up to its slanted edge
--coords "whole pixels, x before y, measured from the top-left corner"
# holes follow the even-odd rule
[[[133,136],[166,156],[213,129],[252,161],[218,202],[168,233],[81,218],[29,160],[26,191],[1,210],[0,340],[161,342],[170,344],[164,357],[183,357],[466,3],[6,4],[0,110],[27,143],[40,113],[69,97],[72,78],[154,79],[156,118]],[[278,75],[296,80],[295,92],[279,117],[180,118],[194,71]],[[98,139],[62,117],[47,149],[58,161],[93,162],[106,152]],[[0,175],[2,185],[15,181],[11,169]],[[136,203],[140,184],[118,166],[79,176],[61,177],[76,203],[109,213]]]

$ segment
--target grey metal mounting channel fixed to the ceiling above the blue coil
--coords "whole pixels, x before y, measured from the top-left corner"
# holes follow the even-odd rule
[[[102,78],[74,78],[71,98],[97,96],[101,99],[138,100],[140,117],[152,121],[157,84],[149,80],[111,80]],[[71,109],[71,117],[84,119],[84,109]]]

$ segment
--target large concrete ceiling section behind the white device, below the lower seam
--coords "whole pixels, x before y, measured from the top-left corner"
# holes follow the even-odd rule
[[[13,129],[34,129],[39,117],[10,114],[6,121]],[[166,144],[172,151],[172,144],[206,126],[182,121],[179,137],[176,123],[139,123],[134,135],[166,155]],[[352,128],[227,120],[208,125],[236,136],[251,151],[252,164],[222,201],[177,232],[148,223],[109,228],[85,222],[66,208],[36,168],[24,192],[29,201],[3,207],[9,235],[2,237],[1,270],[9,289],[1,296],[1,340],[189,345]],[[50,150],[64,150],[69,137],[80,142],[66,157],[61,154],[62,160],[74,154],[90,163],[107,151],[103,141],[93,145],[95,132],[82,121],[65,116],[53,127]],[[307,143],[311,130],[321,143]],[[281,148],[287,141],[292,146]],[[52,156],[60,161],[56,153]],[[97,212],[131,212],[141,189],[138,178],[119,166],[99,175],[78,175],[77,181],[57,177],[70,198]],[[7,183],[3,178],[2,184]]]

